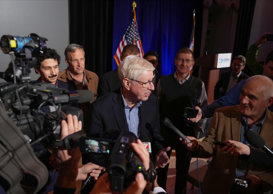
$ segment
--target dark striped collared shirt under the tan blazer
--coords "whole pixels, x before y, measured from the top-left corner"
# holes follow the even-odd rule
[[[247,123],[247,118],[245,117],[245,115],[243,115],[242,118],[242,126],[241,126],[241,138],[240,138],[240,142],[243,144],[246,144],[248,146],[252,146],[249,142],[247,142],[247,140],[244,137],[244,133],[246,130],[253,130],[256,133],[260,133],[260,130],[262,128],[262,125],[264,124],[264,121],[266,119],[266,115],[267,115],[267,109],[264,112],[263,116],[262,116],[262,120],[260,120],[259,122],[256,122],[255,124],[253,124],[253,126],[251,128],[249,128],[249,125]]]

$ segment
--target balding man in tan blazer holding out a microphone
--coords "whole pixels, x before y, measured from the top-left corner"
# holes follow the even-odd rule
[[[201,142],[190,136],[187,138],[191,142],[182,141],[193,157],[213,156],[201,185],[202,193],[266,193],[272,190],[272,168],[253,164],[243,156],[234,154],[235,151],[230,154],[214,144],[214,140],[224,143],[231,143],[228,140],[233,140],[252,146],[244,134],[253,130],[264,138],[269,148],[273,147],[273,113],[268,111],[273,102],[273,92],[268,88],[273,88],[273,81],[268,77],[255,75],[248,78],[240,94],[240,105],[217,109],[210,131]],[[247,178],[251,181],[248,180],[247,187],[241,187],[243,184],[237,187],[239,185],[235,178]]]

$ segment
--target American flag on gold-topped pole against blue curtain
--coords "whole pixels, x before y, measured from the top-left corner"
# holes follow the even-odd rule
[[[137,22],[136,22],[136,2],[133,2],[133,19],[131,23],[129,24],[125,34],[122,37],[122,40],[120,41],[120,44],[117,48],[116,54],[114,55],[114,59],[116,60],[117,65],[120,65],[120,55],[122,52],[122,49],[124,48],[125,45],[127,44],[135,44],[139,50],[140,50],[140,57],[143,58],[144,52],[141,44],[141,40],[139,37],[138,33],[138,28],[137,28]]]

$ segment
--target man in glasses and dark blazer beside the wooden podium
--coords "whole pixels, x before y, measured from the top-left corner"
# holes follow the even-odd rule
[[[236,56],[231,65],[231,72],[224,72],[220,75],[214,88],[214,100],[225,95],[234,85],[249,78],[248,75],[242,72],[245,68],[245,57],[242,55]]]

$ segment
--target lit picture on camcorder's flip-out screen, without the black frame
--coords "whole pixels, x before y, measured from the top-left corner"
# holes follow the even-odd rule
[[[85,151],[89,153],[110,154],[109,142],[86,139]]]

